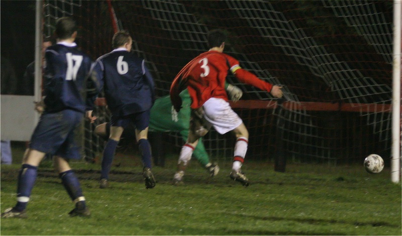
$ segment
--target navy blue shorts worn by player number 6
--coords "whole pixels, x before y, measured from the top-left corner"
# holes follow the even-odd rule
[[[124,117],[113,116],[110,118],[111,126],[119,126],[126,128],[130,123],[134,124],[137,130],[144,130],[149,126],[150,110],[139,113],[133,113]]]

